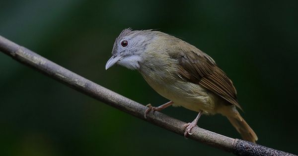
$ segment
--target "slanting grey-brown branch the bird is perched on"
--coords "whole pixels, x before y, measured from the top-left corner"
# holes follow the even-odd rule
[[[145,119],[144,112],[147,108],[146,106],[87,80],[2,36],[0,36],[0,51],[100,102],[109,104],[179,135],[184,135],[182,125],[185,124],[185,122],[169,117],[161,112],[154,112],[154,114],[150,112],[147,115],[147,119]],[[197,126],[192,129],[192,133],[193,135],[188,136],[190,139],[222,149],[237,156],[295,156],[240,139],[229,138]]]

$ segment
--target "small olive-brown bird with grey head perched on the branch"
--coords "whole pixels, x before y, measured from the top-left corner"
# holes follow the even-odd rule
[[[228,118],[244,140],[255,143],[255,132],[236,107],[236,90],[215,61],[206,53],[171,35],[153,31],[125,29],[116,38],[106,69],[115,63],[138,70],[148,84],[170,102],[145,111],[160,111],[167,106],[183,106],[199,112],[185,124],[184,135],[191,135],[202,114],[220,113]]]

